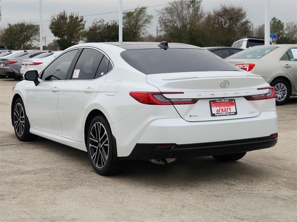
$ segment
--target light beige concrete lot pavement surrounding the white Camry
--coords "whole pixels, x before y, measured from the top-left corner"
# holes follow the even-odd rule
[[[273,148],[234,163],[131,161],[104,177],[86,152],[16,139],[9,114],[16,82],[0,80],[0,221],[297,221],[296,98],[277,107]]]

